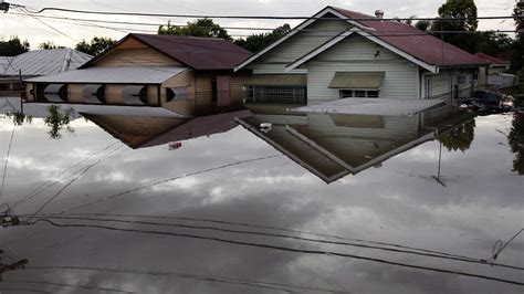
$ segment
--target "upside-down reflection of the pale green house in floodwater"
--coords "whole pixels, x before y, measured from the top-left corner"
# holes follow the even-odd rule
[[[464,118],[449,113],[448,107],[413,116],[290,114],[275,109],[253,107],[253,117],[239,123],[326,182],[380,166],[436,139],[439,130]],[[271,129],[261,128],[262,123],[271,123]]]

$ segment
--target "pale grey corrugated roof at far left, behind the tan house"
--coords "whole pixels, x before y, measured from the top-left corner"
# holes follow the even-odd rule
[[[72,49],[34,50],[14,57],[0,57],[0,75],[39,76],[78,69],[93,56]]]

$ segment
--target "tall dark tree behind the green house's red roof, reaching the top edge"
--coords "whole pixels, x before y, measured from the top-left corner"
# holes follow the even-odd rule
[[[459,18],[460,20],[444,20]],[[431,31],[475,32],[479,27],[476,20],[476,6],[473,0],[447,0],[439,8],[439,18],[431,24]],[[436,33],[436,35],[441,35]],[[451,43],[468,52],[478,52],[478,38],[475,33],[442,33],[443,41]]]

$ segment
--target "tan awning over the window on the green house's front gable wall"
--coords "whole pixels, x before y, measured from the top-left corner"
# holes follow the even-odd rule
[[[385,72],[336,72],[331,88],[380,88]]]

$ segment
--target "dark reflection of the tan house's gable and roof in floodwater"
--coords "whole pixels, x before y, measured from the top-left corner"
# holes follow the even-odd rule
[[[147,115],[83,114],[84,117],[133,149],[224,133],[238,126],[235,118],[247,118],[251,115],[249,111],[238,111],[184,119]]]

